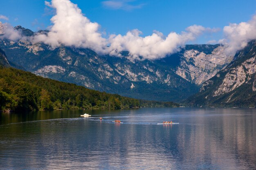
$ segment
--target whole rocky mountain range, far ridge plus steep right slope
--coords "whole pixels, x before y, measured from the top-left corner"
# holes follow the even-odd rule
[[[0,28],[3,33],[4,26]],[[7,56],[0,56],[2,65],[137,99],[183,101],[188,106],[256,105],[256,41],[235,56],[226,55],[220,44],[194,44],[162,59],[137,60],[128,51],[116,57],[75,47],[52,49],[29,41],[47,30],[14,29],[22,38],[0,41],[1,52]]]

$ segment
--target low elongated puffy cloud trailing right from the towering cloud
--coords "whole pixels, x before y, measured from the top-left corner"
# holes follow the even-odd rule
[[[193,25],[186,28],[181,34],[171,32],[167,37],[162,33],[155,32],[152,35],[141,37],[139,30],[129,31],[126,35],[112,35],[108,48],[110,55],[118,55],[121,51],[129,51],[135,58],[142,56],[144,59],[157,59],[166,57],[167,54],[180,50],[180,46],[186,42],[195,40],[204,32],[216,31],[215,29],[204,28]]]

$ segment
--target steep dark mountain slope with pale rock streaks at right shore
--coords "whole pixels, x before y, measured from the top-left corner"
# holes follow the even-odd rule
[[[256,106],[256,41],[239,51],[225,69],[187,100],[192,106]]]

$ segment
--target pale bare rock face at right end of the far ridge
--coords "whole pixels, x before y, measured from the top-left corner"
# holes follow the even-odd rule
[[[210,79],[218,71],[229,64],[233,57],[226,56],[223,46],[218,46],[211,54],[199,52],[198,50],[187,50],[182,56],[180,66],[177,67],[176,74],[191,83],[202,84]]]

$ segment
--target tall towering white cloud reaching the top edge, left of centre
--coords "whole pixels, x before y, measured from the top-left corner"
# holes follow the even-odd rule
[[[102,48],[107,42],[98,31],[99,24],[90,22],[76,4],[70,0],[52,0],[51,4],[49,2],[45,4],[56,9],[56,15],[51,18],[53,25],[47,35],[36,35],[33,42],[45,42],[53,48],[65,44],[103,51]]]

